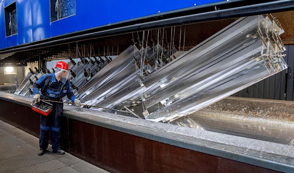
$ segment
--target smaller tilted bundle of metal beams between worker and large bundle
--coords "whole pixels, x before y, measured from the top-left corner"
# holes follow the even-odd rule
[[[79,99],[90,105],[113,108],[124,107],[128,100],[138,98],[144,86],[142,79],[170,61],[167,49],[153,43],[150,46],[125,49],[78,91]]]

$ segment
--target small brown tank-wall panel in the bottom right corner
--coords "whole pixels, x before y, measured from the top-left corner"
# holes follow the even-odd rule
[[[261,167],[220,158],[219,160],[219,173],[280,173],[273,170],[268,170]]]

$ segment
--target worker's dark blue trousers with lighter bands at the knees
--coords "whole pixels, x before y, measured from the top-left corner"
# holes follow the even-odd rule
[[[49,132],[50,141],[52,144],[52,150],[56,151],[61,148],[60,138],[60,117],[63,111],[62,103],[54,103],[53,110],[48,116],[41,115],[41,125],[40,125],[40,149],[47,149],[49,142]]]

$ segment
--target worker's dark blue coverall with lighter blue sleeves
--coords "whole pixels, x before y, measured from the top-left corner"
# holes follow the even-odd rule
[[[65,83],[57,81],[55,74],[45,74],[33,84],[33,93],[40,94],[46,100],[62,101],[62,98],[67,95],[74,102],[70,82]],[[61,133],[60,133],[60,117],[63,111],[63,103],[50,102],[53,105],[53,110],[48,116],[41,115],[40,125],[40,149],[46,150],[49,142],[49,130],[51,128],[50,141],[52,150],[57,151],[61,148]]]

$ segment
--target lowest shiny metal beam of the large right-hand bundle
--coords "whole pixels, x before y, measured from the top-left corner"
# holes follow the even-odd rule
[[[235,74],[220,83],[216,83],[212,86],[203,86],[199,89],[198,95],[196,94],[188,98],[183,98],[182,100],[171,104],[169,107],[162,108],[153,114],[150,114],[148,117],[152,117],[153,119],[168,117],[166,118],[166,121],[173,121],[206,105],[230,96],[233,93],[252,85],[255,81],[258,82],[270,75],[264,65],[257,64],[251,69],[248,69],[248,71]]]

